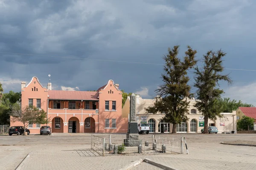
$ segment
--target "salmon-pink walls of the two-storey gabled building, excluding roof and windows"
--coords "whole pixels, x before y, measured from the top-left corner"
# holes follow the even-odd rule
[[[33,88],[33,91],[32,91]],[[36,89],[36,91],[35,91]],[[111,92],[111,93],[110,93]],[[41,108],[47,112],[48,91],[43,88],[37,77],[33,77],[27,87],[21,90],[21,105],[22,107],[29,104],[29,99],[33,99],[33,105],[36,106],[36,99],[41,99]],[[109,111],[105,111],[105,101],[109,101]],[[116,111],[112,111],[112,101],[116,101]],[[99,113],[95,110],[85,109],[48,109],[48,118],[52,127],[52,133],[68,133],[68,121],[76,122],[77,133],[126,133],[128,127],[128,118],[122,118],[122,92],[114,85],[113,80],[108,81],[108,85],[104,90],[99,91]],[[53,102],[51,102],[53,107]],[[90,102],[90,109],[92,109],[92,102]],[[55,129],[55,117],[61,118],[61,128]],[[90,129],[85,129],[84,125],[80,125],[87,117],[91,118]],[[110,128],[105,128],[105,119],[110,119]],[[111,128],[112,119],[116,119],[116,128]],[[64,125],[67,123],[67,125]],[[20,122],[11,123],[11,126],[21,125]],[[41,125],[42,126],[42,125]],[[31,133],[40,133],[40,128],[29,128]]]

